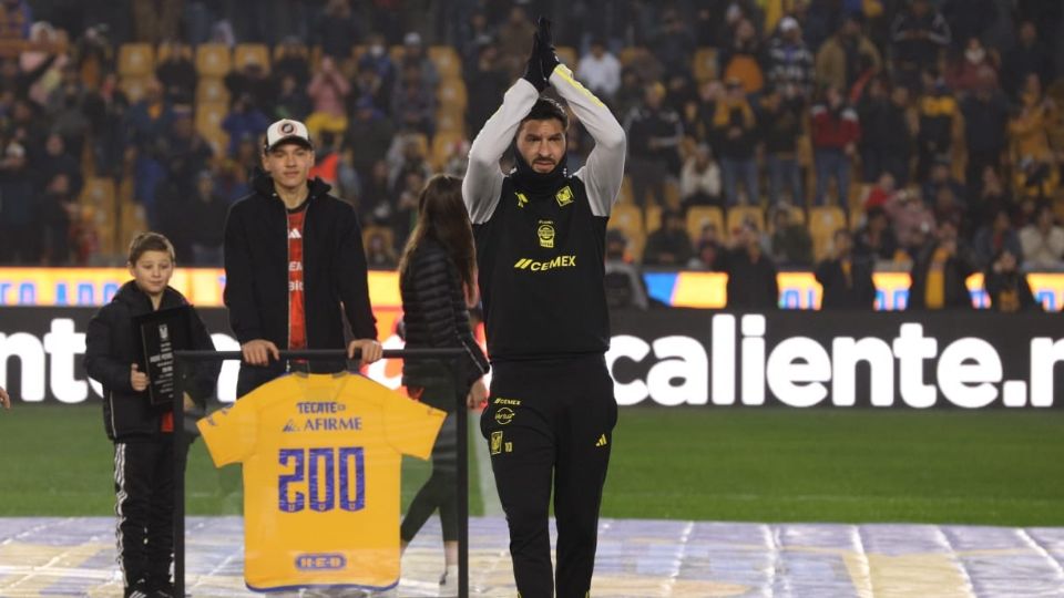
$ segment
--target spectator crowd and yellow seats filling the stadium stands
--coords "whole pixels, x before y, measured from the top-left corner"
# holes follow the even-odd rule
[[[777,269],[853,262],[930,275],[949,306],[971,272],[1064,268],[1057,0],[254,4],[0,0],[0,262],[113,264],[152,229],[216,266],[267,125],[291,117],[370,266],[395,268],[542,12],[628,135],[622,269],[740,274],[757,306]]]

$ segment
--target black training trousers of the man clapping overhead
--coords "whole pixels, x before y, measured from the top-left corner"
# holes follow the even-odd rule
[[[499,499],[510,526],[518,591],[583,598],[591,589],[598,508],[617,422],[613,380],[602,355],[493,363],[488,439]],[[551,575],[551,486],[557,571]]]

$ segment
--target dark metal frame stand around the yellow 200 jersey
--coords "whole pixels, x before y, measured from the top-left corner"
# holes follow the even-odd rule
[[[450,359],[458,380],[458,359],[466,354],[461,348],[453,349],[386,349],[383,359]],[[239,351],[174,351],[174,590],[177,596],[185,594],[185,452],[188,447],[183,425],[184,375],[182,363],[190,361],[241,360]],[[304,351],[280,351],[280,360],[346,360],[347,351],[339,349],[308,349]],[[456,399],[456,420],[458,422],[458,595],[469,596],[469,420],[466,416],[466,398]],[[178,425],[182,424],[182,425]],[[398,528],[396,530],[398,533]]]

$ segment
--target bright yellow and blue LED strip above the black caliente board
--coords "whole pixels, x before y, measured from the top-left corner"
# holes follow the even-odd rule
[[[125,268],[0,268],[0,305],[4,306],[102,306],[129,280]],[[722,309],[728,277],[720,272],[647,271],[647,292],[672,307]],[[876,309],[903,310],[909,299],[908,272],[876,272]],[[812,272],[779,274],[779,306],[784,309],[818,309],[820,285]],[[1046,311],[1064,306],[1064,274],[1029,274],[1035,299]],[[218,268],[178,268],[171,285],[198,307],[221,307],[225,272]],[[990,305],[983,276],[968,279],[972,305]],[[378,312],[397,311],[399,278],[395,271],[371,270],[369,295]]]

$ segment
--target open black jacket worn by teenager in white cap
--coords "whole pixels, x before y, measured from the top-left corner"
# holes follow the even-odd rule
[[[309,182],[303,227],[303,285],[308,349],[344,349],[344,318],[358,339],[376,339],[362,230],[355,209]],[[288,217],[273,179],[256,173],[253,193],[225,223],[225,306],[241,344],[255,339],[288,348]],[[341,312],[342,306],[342,312]]]

